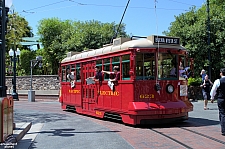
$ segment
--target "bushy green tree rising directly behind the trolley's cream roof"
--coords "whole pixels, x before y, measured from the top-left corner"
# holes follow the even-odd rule
[[[86,49],[98,49],[110,43],[116,33],[118,25],[113,23],[101,23],[100,21],[75,21],[72,28],[67,28],[64,34],[64,43],[69,51],[83,51]],[[121,24],[117,37],[128,37],[125,25]]]

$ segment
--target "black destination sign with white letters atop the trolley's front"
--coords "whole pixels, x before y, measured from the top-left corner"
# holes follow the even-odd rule
[[[180,38],[175,37],[166,37],[166,36],[154,36],[154,43],[160,43],[160,44],[180,44]]]

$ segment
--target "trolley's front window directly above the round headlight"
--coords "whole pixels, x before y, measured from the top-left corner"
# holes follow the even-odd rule
[[[172,55],[171,53],[159,53],[158,79],[177,80],[177,66],[177,55]]]

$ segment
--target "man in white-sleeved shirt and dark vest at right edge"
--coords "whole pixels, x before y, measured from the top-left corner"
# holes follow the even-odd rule
[[[220,69],[220,76],[221,78],[214,82],[210,95],[211,99],[214,100],[216,93],[218,93],[219,120],[222,135],[225,136],[225,68]]]

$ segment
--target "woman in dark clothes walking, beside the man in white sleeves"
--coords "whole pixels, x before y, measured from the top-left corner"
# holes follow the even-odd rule
[[[205,79],[203,81],[202,87],[202,94],[204,98],[204,110],[208,110],[207,104],[208,100],[210,100],[210,87],[213,85],[213,83],[209,80],[209,76],[205,75]]]

